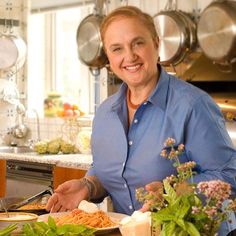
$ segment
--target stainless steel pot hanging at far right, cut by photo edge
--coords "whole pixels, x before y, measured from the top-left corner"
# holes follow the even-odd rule
[[[236,61],[236,2],[212,2],[201,14],[197,38],[203,53],[219,64]]]

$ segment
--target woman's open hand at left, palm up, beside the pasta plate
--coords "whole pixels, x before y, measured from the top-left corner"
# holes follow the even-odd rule
[[[49,198],[46,210],[50,212],[68,211],[78,207],[82,200],[89,198],[89,191],[83,179],[73,179],[59,185]]]

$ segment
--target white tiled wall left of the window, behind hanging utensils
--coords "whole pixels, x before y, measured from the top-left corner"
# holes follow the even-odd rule
[[[6,27],[6,25],[0,25],[0,36],[2,35],[15,35],[21,37],[27,45],[27,16],[29,13],[28,0],[0,0],[0,18],[6,20],[19,21],[19,26]],[[19,92],[19,98],[22,103],[25,103],[27,99],[26,78],[27,66],[25,64],[17,73],[13,68],[13,72],[0,71],[0,94],[2,95],[3,90],[6,86],[16,84]],[[10,89],[14,88],[11,86]],[[1,138],[10,131],[15,125],[16,121],[16,106],[8,102],[3,101],[2,96],[0,97],[0,144]]]

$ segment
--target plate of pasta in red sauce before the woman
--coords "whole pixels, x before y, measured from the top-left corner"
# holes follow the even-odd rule
[[[108,233],[119,228],[120,221],[127,217],[125,214],[115,212],[86,212],[75,209],[70,212],[57,212],[40,215],[38,221],[47,222],[48,217],[54,218],[57,225],[64,224],[83,224],[96,229],[96,234]]]

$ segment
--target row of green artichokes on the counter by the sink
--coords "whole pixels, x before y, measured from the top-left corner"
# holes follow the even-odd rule
[[[53,140],[42,140],[34,145],[34,151],[39,154],[72,154],[76,153],[77,149],[74,144],[67,142],[61,138]]]

